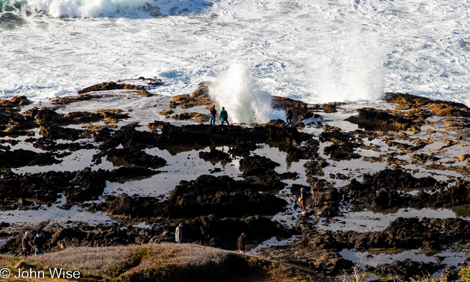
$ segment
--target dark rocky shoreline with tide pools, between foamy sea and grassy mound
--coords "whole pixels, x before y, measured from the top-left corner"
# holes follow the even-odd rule
[[[173,242],[176,224],[185,222],[188,242],[228,250],[235,248],[241,232],[248,234],[251,247],[272,237],[296,235],[298,240],[261,249],[258,255],[329,277],[353,266],[340,254],[345,249],[419,249],[435,256],[436,262],[410,258],[365,268],[383,277],[407,279],[443,272],[449,280],[458,278],[457,265],[438,257],[456,245],[466,248],[470,238],[466,105],[401,93],[386,93],[375,107],[356,108],[275,96],[275,109],[293,108],[292,127],[272,120],[223,128],[199,124],[208,121],[210,83],[201,83],[192,94],[165,98],[149,92],[164,85],[160,80],[137,81],[141,85],[125,81],[95,85],[42,107],[30,105],[25,96],[0,100],[2,213],[11,212],[13,217],[17,211],[39,213],[62,203],[64,197],[59,209],[79,207],[85,213],[106,214],[112,221],[25,225],[2,219],[1,252],[17,252],[25,230],[42,230],[49,239],[47,249],[55,251],[78,245]],[[139,115],[133,109],[70,110],[116,99],[125,105],[124,98],[116,98],[119,94],[133,101],[145,99],[159,117],[143,124],[143,119],[133,117]],[[263,146],[270,153],[261,155]],[[188,155],[184,166],[171,157],[191,151],[197,154]],[[284,163],[274,160],[273,152],[285,155]],[[88,159],[76,161],[79,153]],[[168,153],[170,157],[163,157]],[[203,173],[194,158],[220,167]],[[280,171],[286,163],[299,163],[302,169]],[[61,165],[73,170],[58,169]],[[54,169],[48,170],[49,166]],[[165,183],[160,195],[107,191],[112,185],[178,177],[168,171],[172,166],[184,169],[185,177],[176,185]],[[237,175],[228,174],[231,166]],[[310,196],[305,215],[299,214],[295,201],[301,187]],[[403,216],[373,232],[320,225],[320,220],[326,225],[341,222],[347,212],[423,208],[458,211],[460,217]],[[276,220],[277,215],[283,220]],[[289,218],[291,226],[286,224]],[[136,227],[142,222],[145,227]]]

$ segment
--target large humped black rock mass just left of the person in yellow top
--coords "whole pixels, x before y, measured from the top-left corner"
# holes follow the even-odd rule
[[[164,201],[152,197],[108,196],[108,211],[113,215],[164,218],[271,215],[282,211],[287,204],[272,194],[259,192],[273,188],[235,181],[228,176],[202,175],[190,182],[181,181]]]

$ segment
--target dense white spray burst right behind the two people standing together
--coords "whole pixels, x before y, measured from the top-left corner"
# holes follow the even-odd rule
[[[258,88],[248,69],[240,63],[230,65],[217,78],[210,88],[210,96],[220,107],[225,107],[230,123],[267,123],[283,117],[281,111],[273,110],[273,97]]]

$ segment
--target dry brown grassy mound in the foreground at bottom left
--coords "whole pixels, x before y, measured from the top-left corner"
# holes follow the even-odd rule
[[[145,249],[144,249],[145,248]],[[142,254],[137,263],[133,254]],[[0,256],[3,259],[10,257]],[[6,261],[6,260],[4,260]],[[89,281],[118,276],[120,281],[212,280],[234,273],[264,273],[277,278],[319,281],[317,275],[297,267],[242,255],[234,251],[196,244],[144,244],[114,247],[70,247],[41,257],[30,256],[27,264],[40,268],[62,267],[86,273]],[[118,270],[118,271],[116,271]],[[254,271],[254,272],[253,272]],[[98,278],[99,277],[99,278]],[[92,278],[92,279],[90,279]]]

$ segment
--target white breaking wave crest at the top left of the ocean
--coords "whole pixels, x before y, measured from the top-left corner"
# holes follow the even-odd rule
[[[53,17],[97,17],[103,13],[134,10],[148,0],[25,0],[35,10],[47,11]]]

